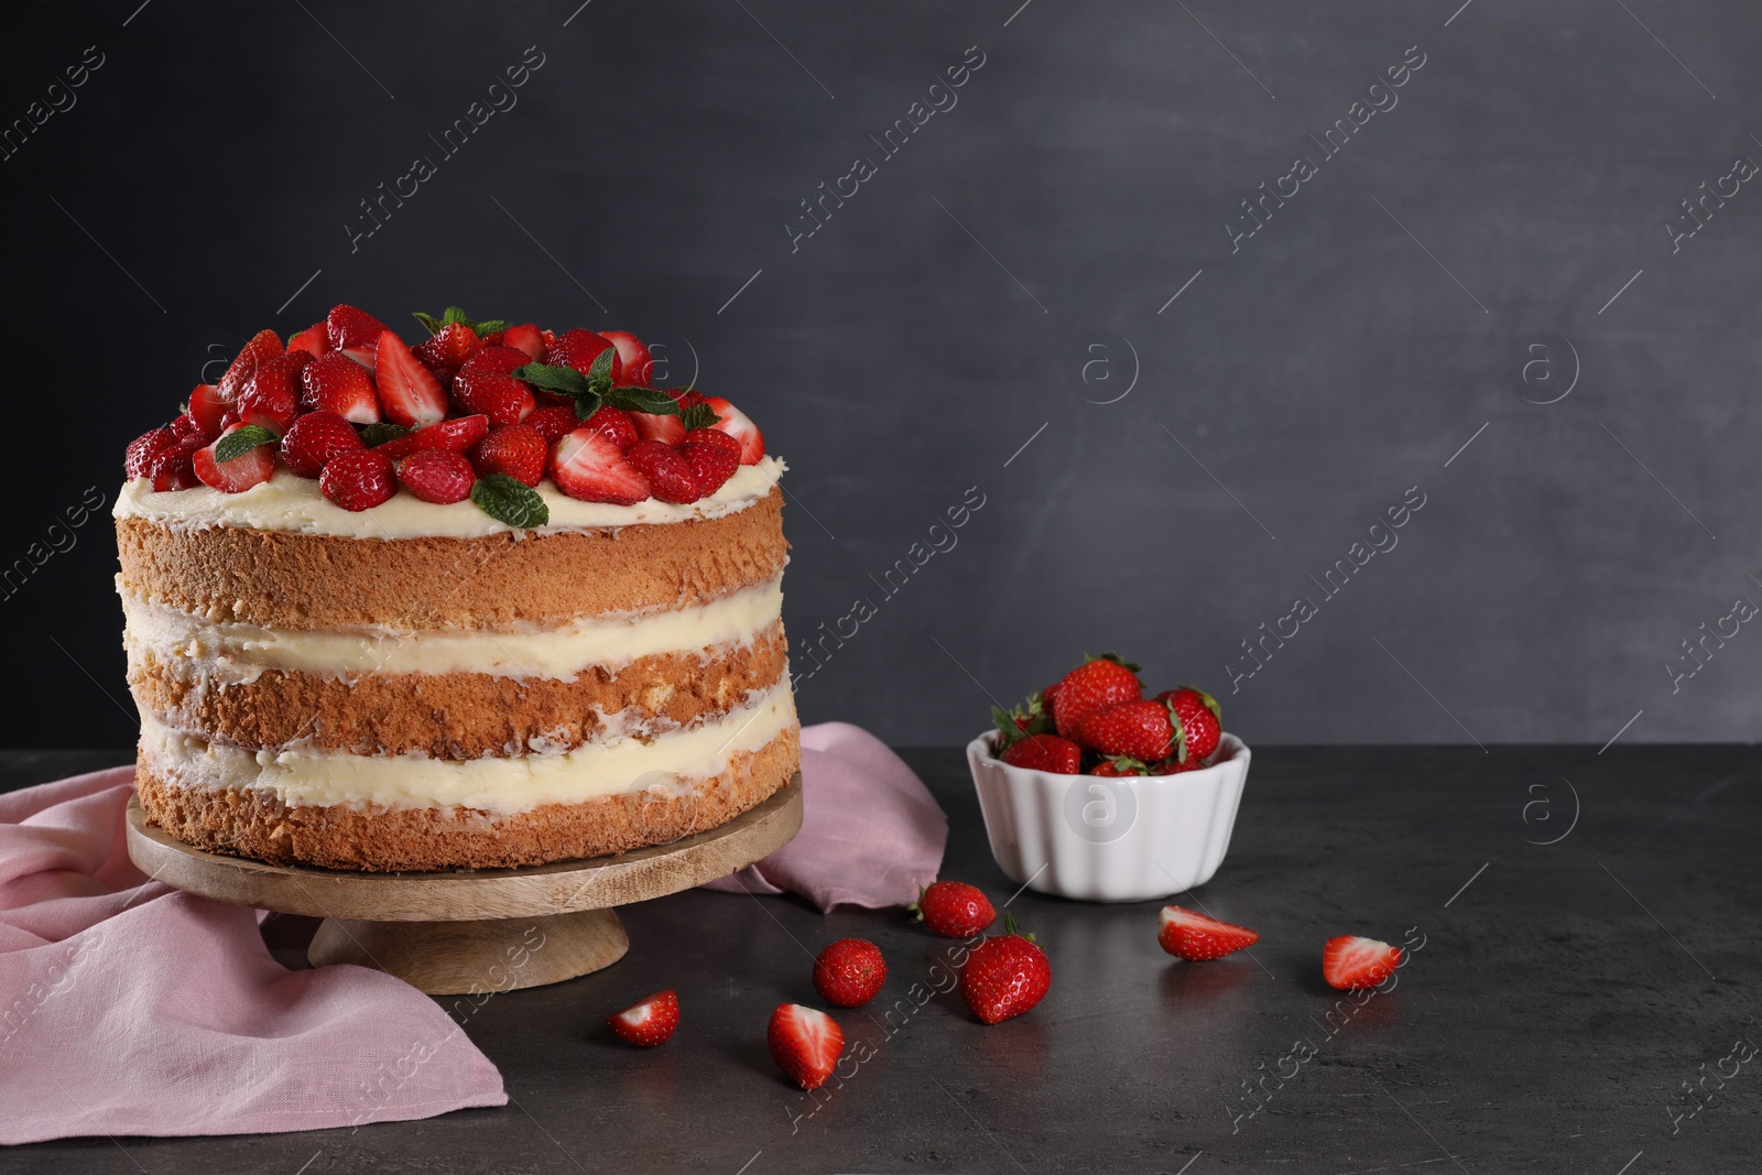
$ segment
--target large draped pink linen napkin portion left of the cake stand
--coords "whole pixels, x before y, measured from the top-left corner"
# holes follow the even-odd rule
[[[134,768],[0,794],[0,1143],[245,1134],[507,1103],[442,1008],[365,967],[287,971],[257,913],[144,877]]]

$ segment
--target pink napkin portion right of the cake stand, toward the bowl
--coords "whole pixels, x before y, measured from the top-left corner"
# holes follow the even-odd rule
[[[800,893],[821,911],[885,909],[936,881],[948,817],[888,745],[849,722],[802,728],[802,831],[758,865],[712,881],[728,893]]]

